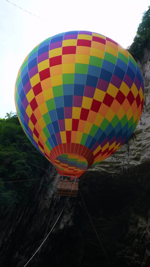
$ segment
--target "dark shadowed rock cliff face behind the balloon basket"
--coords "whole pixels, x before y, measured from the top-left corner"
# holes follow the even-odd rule
[[[88,170],[77,198],[57,195],[53,166],[0,222],[0,266],[150,265],[150,47],[141,62],[145,105],[128,142]]]

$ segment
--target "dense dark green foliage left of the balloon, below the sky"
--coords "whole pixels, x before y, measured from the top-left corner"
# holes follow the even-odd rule
[[[0,119],[0,216],[21,201],[43,175],[48,161],[24,134],[16,114]],[[24,182],[15,182],[25,180]],[[11,181],[11,182],[10,182]]]

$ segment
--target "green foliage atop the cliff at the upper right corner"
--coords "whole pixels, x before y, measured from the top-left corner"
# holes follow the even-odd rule
[[[150,42],[150,6],[148,10],[143,13],[142,21],[139,24],[134,37],[133,43],[128,47],[127,51],[134,59],[140,59],[143,54],[143,49],[149,45]]]

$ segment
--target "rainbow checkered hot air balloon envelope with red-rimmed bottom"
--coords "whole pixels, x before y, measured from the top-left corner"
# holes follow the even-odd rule
[[[79,177],[133,133],[144,86],[132,56],[97,33],[50,37],[25,58],[15,105],[29,140],[60,175]]]

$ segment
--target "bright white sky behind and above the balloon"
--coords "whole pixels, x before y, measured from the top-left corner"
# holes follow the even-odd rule
[[[14,86],[28,53],[66,31],[91,31],[131,45],[149,0],[0,0],[0,118],[15,112]]]

